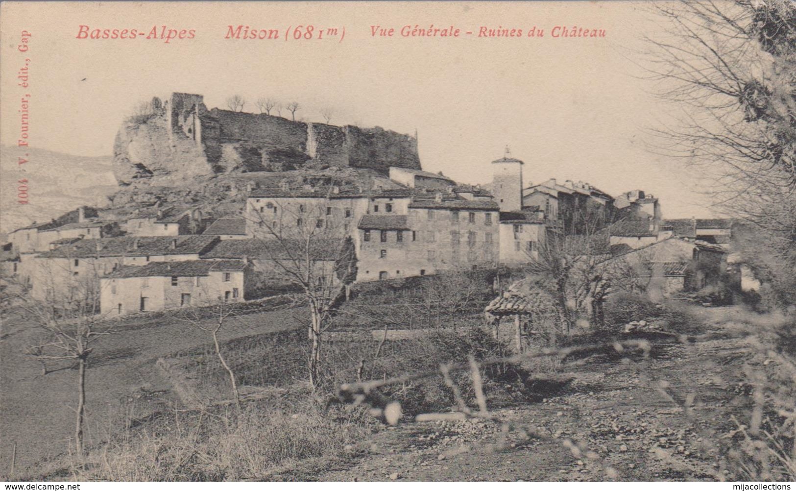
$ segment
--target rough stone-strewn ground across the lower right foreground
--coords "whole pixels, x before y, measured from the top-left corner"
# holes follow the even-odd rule
[[[560,375],[574,381],[540,403],[495,411],[494,421],[387,428],[351,448],[346,465],[317,478],[716,480],[724,469],[711,442],[745,403],[737,388],[748,357],[744,342],[732,340],[665,345],[649,360],[591,357],[566,365]],[[689,393],[690,417],[681,405]]]

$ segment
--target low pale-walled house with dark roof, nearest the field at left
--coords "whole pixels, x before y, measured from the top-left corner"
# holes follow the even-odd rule
[[[244,299],[242,261],[157,261],[100,278],[100,313],[116,317]]]

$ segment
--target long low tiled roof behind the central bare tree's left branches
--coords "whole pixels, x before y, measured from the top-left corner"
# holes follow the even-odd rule
[[[317,239],[310,242],[310,255],[318,261],[334,261],[341,257],[341,240]],[[203,253],[201,259],[290,260],[306,248],[303,240],[241,239],[221,240]]]

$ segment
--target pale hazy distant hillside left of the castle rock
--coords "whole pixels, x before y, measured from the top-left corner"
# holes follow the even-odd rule
[[[80,205],[104,205],[118,189],[111,157],[80,157],[50,150],[27,150],[29,162],[18,165],[17,147],[0,147],[0,232],[47,221]],[[24,170],[23,170],[24,168]],[[29,203],[20,205],[17,181],[28,179]]]

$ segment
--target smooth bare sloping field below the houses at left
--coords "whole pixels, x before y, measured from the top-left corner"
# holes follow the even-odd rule
[[[297,310],[275,310],[242,316],[222,331],[222,340],[296,329]],[[209,342],[207,333],[189,325],[156,321],[127,325],[103,337],[87,372],[86,442],[107,438],[109,422],[123,411],[146,413],[173,400],[174,394],[155,367],[158,357]],[[0,341],[0,466],[10,469],[17,446],[18,474],[38,462],[62,454],[73,434],[76,371],[59,369],[42,375],[41,364],[23,355],[35,331],[24,325],[3,325]]]

